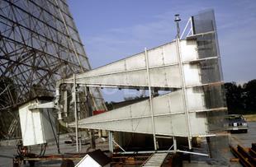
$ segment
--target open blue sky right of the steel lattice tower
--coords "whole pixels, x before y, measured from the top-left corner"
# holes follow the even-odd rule
[[[214,9],[224,81],[256,79],[255,0],[68,0],[92,68],[166,44],[189,16]]]

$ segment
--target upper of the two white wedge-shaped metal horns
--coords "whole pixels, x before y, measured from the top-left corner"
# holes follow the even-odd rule
[[[181,87],[181,75],[178,68],[178,57],[175,42],[164,44],[147,51],[149,58],[150,84],[153,87],[179,88]],[[197,59],[196,44],[194,42],[181,41],[183,61]],[[187,64],[184,64],[187,66]],[[198,69],[187,67],[187,85],[198,84]],[[191,71],[193,70],[193,71]],[[196,76],[197,74],[197,76]],[[196,76],[196,77],[194,77]],[[97,86],[148,86],[145,53],[138,53],[129,58],[121,59],[115,63],[98,67],[92,71],[78,74],[78,84]],[[190,80],[192,80],[190,83]],[[73,78],[64,82],[73,82]]]

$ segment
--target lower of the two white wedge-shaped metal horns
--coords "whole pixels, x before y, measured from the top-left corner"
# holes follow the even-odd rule
[[[173,93],[160,95],[152,99],[156,134],[187,136],[182,93],[183,91],[177,90]],[[205,109],[201,105],[203,99],[198,98],[201,97],[201,91],[193,91],[191,88],[187,90],[187,95],[192,100],[195,100],[192,104],[189,103],[188,109],[191,111],[195,109],[203,111]],[[104,114],[82,119],[78,122],[78,127],[152,134],[153,130],[149,109],[149,100],[144,100],[120,109],[111,110]],[[201,133],[205,134],[206,127],[201,127],[201,123],[205,123],[206,118],[201,117],[201,120],[197,122],[196,114],[192,113],[191,117],[193,120],[192,129],[196,129],[192,131],[192,135],[198,136]],[[73,127],[74,123],[70,123],[69,126]]]

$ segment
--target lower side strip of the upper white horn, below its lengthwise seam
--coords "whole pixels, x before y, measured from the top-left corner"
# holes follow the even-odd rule
[[[155,67],[149,69],[151,86],[164,88],[178,88],[181,86],[178,66]],[[88,72],[89,75],[89,72]],[[70,81],[71,83],[72,81]],[[95,77],[77,78],[79,84],[98,86],[148,86],[146,69],[118,72]]]

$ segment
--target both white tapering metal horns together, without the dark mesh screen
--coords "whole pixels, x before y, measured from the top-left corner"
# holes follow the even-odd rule
[[[207,126],[206,112],[223,110],[225,107],[207,107],[202,86],[218,86],[221,81],[202,81],[201,72],[204,69],[201,69],[198,64],[209,59],[217,60],[218,57],[200,59],[197,56],[197,43],[195,40],[184,39],[180,41],[181,66],[184,69],[187,110],[190,120],[187,125],[185,99],[181,90],[182,77],[179,71],[178,51],[175,45],[176,42],[172,42],[147,51],[149,79],[147,77],[145,53],[138,53],[115,63],[76,75],[76,83],[85,86],[148,89],[150,80],[152,89],[174,89],[175,91],[171,93],[152,98],[154,129],[151,126],[152,115],[150,113],[149,100],[79,120],[78,127],[149,134],[155,132],[157,135],[187,137],[187,126],[189,126],[191,127],[190,135],[192,137],[211,135]],[[211,78],[211,76],[207,77]],[[73,83],[73,78],[62,81],[64,83]],[[70,123],[69,126],[75,127],[75,123]]]

